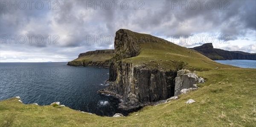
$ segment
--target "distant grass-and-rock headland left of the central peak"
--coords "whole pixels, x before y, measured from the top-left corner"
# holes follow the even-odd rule
[[[70,66],[90,66],[90,67],[109,67],[110,59],[113,57],[114,50],[96,50],[87,51],[79,54],[77,59],[70,61],[67,65]]]

